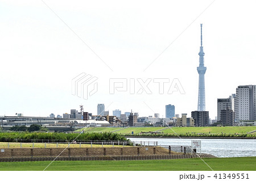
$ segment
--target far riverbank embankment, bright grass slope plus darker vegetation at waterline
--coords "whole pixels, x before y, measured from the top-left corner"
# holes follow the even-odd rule
[[[175,134],[177,133],[183,137],[256,137],[256,132],[247,134],[255,130],[256,127],[128,127],[125,129],[102,127],[86,128],[85,132],[114,132],[126,136],[134,132],[134,136],[177,136]],[[139,134],[141,132],[161,132],[162,134]]]

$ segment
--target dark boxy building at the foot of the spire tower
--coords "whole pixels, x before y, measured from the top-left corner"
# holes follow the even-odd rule
[[[195,127],[207,127],[209,125],[209,111],[192,111],[191,117],[195,120]]]

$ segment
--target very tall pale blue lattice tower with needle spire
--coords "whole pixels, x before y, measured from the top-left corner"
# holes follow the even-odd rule
[[[203,26],[203,24],[201,24],[201,47],[200,47],[200,52],[199,52],[199,66],[197,67],[197,72],[199,73],[199,90],[198,90],[197,111],[205,111],[204,74],[205,74],[205,71],[207,70],[207,68],[204,66],[202,26]]]

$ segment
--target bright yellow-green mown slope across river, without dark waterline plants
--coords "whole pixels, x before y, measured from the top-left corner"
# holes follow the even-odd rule
[[[166,129],[164,129],[166,128]],[[162,130],[163,129],[163,130]],[[82,131],[79,129],[78,131]],[[256,127],[128,127],[125,129],[122,128],[108,128],[108,127],[99,127],[99,128],[86,128],[85,132],[114,132],[121,134],[139,134],[141,132],[163,132],[167,134],[186,134],[186,133],[204,133],[204,134],[245,134],[247,132],[256,131]],[[256,134],[256,132],[252,133]]]

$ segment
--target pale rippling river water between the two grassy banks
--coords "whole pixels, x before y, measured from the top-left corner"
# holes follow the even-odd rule
[[[157,141],[158,146],[191,146],[191,140],[201,140],[201,153],[216,157],[256,157],[256,140],[252,139],[188,139],[188,138],[129,138],[131,141]],[[200,153],[200,150],[197,150]]]

